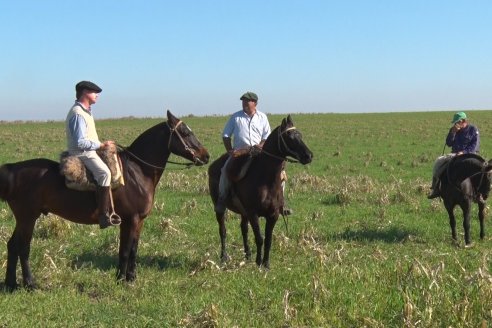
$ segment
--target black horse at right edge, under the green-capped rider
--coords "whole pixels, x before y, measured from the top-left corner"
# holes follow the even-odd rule
[[[451,234],[456,241],[456,219],[454,207],[459,205],[463,211],[465,245],[471,244],[470,212],[473,202],[478,204],[480,220],[480,239],[485,237],[485,200],[490,193],[491,161],[487,162],[476,154],[456,156],[449,162],[447,170],[441,176],[441,197],[448,211]]]

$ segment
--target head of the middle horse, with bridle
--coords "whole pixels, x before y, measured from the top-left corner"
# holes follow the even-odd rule
[[[291,156],[301,164],[309,164],[313,160],[313,153],[302,141],[302,134],[294,126],[292,118],[287,116],[282,120],[278,131],[278,150],[282,156]]]

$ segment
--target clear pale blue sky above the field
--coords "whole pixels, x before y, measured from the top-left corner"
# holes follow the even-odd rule
[[[0,0],[0,120],[492,109],[491,1]]]

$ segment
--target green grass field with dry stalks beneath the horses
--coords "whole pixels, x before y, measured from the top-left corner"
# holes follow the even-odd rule
[[[39,289],[0,292],[0,327],[490,327],[492,238],[479,240],[474,208],[465,249],[456,209],[453,243],[442,203],[425,197],[452,114],[293,115],[314,160],[288,165],[295,214],[288,232],[282,220],[275,228],[269,271],[244,261],[236,215],[232,260],[220,263],[206,167],[166,169],[132,284],[115,280],[116,229],[42,217],[31,248]],[[492,111],[468,115],[488,159]],[[272,128],[282,118],[270,115]],[[227,118],[183,119],[217,158]],[[97,124],[101,139],[128,145],[160,121]],[[62,122],[0,124],[0,163],[56,160],[64,148]],[[13,228],[0,203],[3,270]]]

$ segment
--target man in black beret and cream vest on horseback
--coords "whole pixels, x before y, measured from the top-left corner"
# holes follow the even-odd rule
[[[92,116],[91,106],[97,102],[101,91],[99,86],[90,81],[81,81],[75,85],[76,100],[67,114],[65,130],[69,154],[80,158],[96,180],[98,220],[100,228],[104,229],[120,222],[109,218],[111,171],[96,153],[98,149],[114,145],[113,141],[99,141]]]

